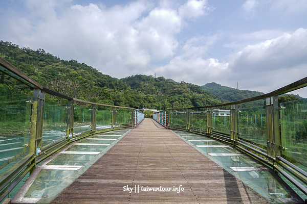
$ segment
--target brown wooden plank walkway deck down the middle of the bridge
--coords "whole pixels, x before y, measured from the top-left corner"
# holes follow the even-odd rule
[[[147,186],[159,191],[141,188]],[[174,189],[179,187],[180,192]],[[269,202],[171,131],[145,119],[52,203]]]

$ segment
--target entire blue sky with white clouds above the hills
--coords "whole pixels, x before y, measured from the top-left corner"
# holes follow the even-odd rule
[[[0,40],[119,79],[268,93],[307,77],[306,10],[306,0],[4,0]]]

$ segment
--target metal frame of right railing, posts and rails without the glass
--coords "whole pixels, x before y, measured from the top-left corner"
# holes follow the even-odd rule
[[[190,108],[176,108],[167,109],[155,113],[153,119],[158,123],[172,130],[187,131],[199,135],[205,135],[212,137],[215,140],[230,144],[239,150],[244,151],[246,154],[252,156],[258,161],[264,163],[265,165],[271,167],[275,172],[282,174],[286,179],[288,179],[292,184],[294,184],[300,191],[307,195],[307,172],[295,166],[291,162],[281,157],[281,150],[284,147],[280,145],[280,132],[279,132],[279,111],[282,110],[278,107],[278,95],[288,93],[307,86],[307,77],[298,80],[292,84],[279,88],[267,94],[246,98],[243,100],[238,100],[232,103],[219,104],[214,106],[204,106],[204,107],[190,107]],[[265,99],[266,106],[266,121],[267,121],[267,149],[261,148],[252,142],[242,140],[239,138],[238,129],[238,105],[243,103],[248,103],[250,101],[255,101],[259,99]],[[225,107],[230,106],[230,130],[229,134],[216,132],[212,127],[212,109],[215,107]],[[206,109],[206,119],[207,126],[205,129],[197,129],[191,125],[191,110],[192,109]],[[186,113],[186,124],[176,125],[172,124],[171,113],[178,113],[179,111]],[[166,123],[161,115],[167,112],[168,119]],[[214,113],[213,113],[214,114]],[[286,169],[289,173],[287,173]],[[296,179],[295,179],[296,178]],[[297,180],[302,182],[304,185],[299,183]]]

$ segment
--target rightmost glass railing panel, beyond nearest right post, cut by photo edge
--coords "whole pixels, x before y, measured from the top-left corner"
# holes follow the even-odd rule
[[[295,165],[307,167],[307,99],[281,103],[282,156]]]

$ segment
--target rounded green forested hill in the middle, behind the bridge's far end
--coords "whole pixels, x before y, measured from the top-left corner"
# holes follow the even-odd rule
[[[176,83],[163,77],[134,75],[120,81],[137,93],[147,96],[148,103],[159,103],[162,107],[200,107],[223,103],[200,86],[185,82]]]

